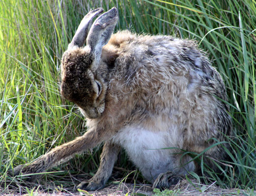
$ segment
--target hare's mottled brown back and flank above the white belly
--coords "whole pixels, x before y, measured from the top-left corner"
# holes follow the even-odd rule
[[[208,147],[210,138],[224,140],[220,132],[230,134],[228,105],[221,100],[227,100],[224,83],[195,41],[121,31],[107,47],[118,53],[110,97],[115,107],[125,105],[109,116],[156,132],[175,126],[181,148],[196,152]],[[162,126],[166,122],[169,126]]]

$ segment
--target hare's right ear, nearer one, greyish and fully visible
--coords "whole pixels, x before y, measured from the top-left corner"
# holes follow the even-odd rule
[[[100,15],[92,24],[88,36],[86,38],[86,46],[89,46],[94,56],[93,65],[95,69],[101,58],[102,47],[106,45],[114,31],[117,23],[117,9],[113,7],[111,10]]]

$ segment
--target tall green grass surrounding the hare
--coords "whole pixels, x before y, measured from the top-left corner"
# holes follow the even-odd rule
[[[7,189],[16,182],[7,170],[85,132],[77,108],[59,94],[59,67],[83,16],[100,6],[118,8],[116,30],[195,39],[207,51],[225,81],[236,136],[230,139],[232,161],[226,163],[224,178],[205,170],[224,188],[256,188],[255,0],[1,1],[0,186]],[[77,181],[71,176],[95,173],[99,154],[80,155],[55,168],[69,172],[44,180],[54,181],[52,187],[73,187]],[[131,168],[124,154],[117,165]]]

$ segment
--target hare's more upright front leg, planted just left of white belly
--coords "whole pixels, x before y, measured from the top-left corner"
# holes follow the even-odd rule
[[[101,154],[98,171],[89,181],[81,182],[78,188],[87,191],[102,189],[112,173],[119,150],[119,146],[112,144],[110,141],[106,142]]]

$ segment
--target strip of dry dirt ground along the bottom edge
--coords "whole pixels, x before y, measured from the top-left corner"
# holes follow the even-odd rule
[[[170,196],[256,196],[256,191],[248,192],[239,189],[221,189],[215,184],[210,186],[198,184],[196,182],[189,183],[186,180],[170,188],[168,195]],[[43,193],[34,191],[32,194],[8,193],[0,194],[1,196],[152,196],[153,189],[149,185],[134,185],[130,183],[120,183],[109,185],[108,187],[94,192],[77,191],[75,193]]]

